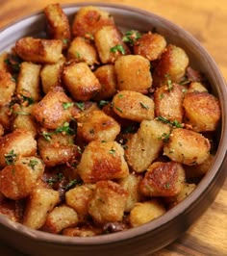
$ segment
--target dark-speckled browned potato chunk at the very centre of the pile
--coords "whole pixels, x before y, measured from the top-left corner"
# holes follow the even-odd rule
[[[86,142],[114,141],[119,132],[119,124],[103,111],[93,111],[78,120],[77,136]]]

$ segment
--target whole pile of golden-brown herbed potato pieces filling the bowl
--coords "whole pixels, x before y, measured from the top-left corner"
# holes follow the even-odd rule
[[[82,7],[0,56],[0,214],[90,237],[159,218],[212,166],[218,100],[184,49]]]

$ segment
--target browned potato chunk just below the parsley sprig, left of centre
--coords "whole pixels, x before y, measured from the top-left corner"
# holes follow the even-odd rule
[[[38,151],[46,166],[58,166],[76,158],[77,146],[71,135],[42,135],[38,138]]]

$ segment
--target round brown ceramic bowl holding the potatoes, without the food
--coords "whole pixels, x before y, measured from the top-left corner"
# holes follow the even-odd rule
[[[115,4],[83,3],[66,5],[63,10],[70,18],[82,6],[95,5],[114,15],[121,29],[149,31],[152,28],[168,42],[181,46],[189,55],[190,64],[203,72],[211,83],[221,106],[219,144],[210,171],[196,190],[161,218],[127,231],[92,238],[71,238],[30,229],[0,216],[0,238],[29,255],[151,255],[172,243],[189,225],[199,218],[214,201],[226,177],[227,149],[227,91],[223,77],[213,58],[182,28],[154,13]],[[8,26],[0,32],[0,52],[9,50],[14,41],[24,36],[41,36],[44,31],[43,13],[35,13]]]

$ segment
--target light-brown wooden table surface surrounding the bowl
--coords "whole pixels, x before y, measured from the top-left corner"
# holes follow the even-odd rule
[[[56,0],[0,0],[0,28],[13,20],[41,10]],[[59,3],[84,1],[60,0]],[[89,2],[95,2],[89,0]],[[101,2],[101,1],[100,1]],[[138,7],[163,15],[185,28],[197,38],[214,57],[224,78],[227,80],[227,1],[226,0],[106,0]],[[0,244],[1,255],[19,255]],[[154,256],[180,255],[227,255],[227,180],[216,196],[214,203],[175,243],[156,252]]]

